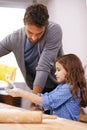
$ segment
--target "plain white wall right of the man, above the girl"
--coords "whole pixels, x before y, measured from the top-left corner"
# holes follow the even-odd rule
[[[61,25],[65,53],[77,54],[87,64],[86,0],[49,0],[50,20]]]

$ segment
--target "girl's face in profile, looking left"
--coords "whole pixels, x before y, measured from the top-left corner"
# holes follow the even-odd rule
[[[63,66],[59,63],[56,62],[56,72],[55,72],[55,76],[56,79],[59,83],[62,83],[65,81],[65,76],[66,76],[67,72],[66,70],[63,68]]]

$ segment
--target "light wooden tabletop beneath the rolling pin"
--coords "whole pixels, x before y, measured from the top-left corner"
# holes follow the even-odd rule
[[[9,109],[15,109],[13,106],[0,103],[1,107],[7,107]],[[17,108],[21,109],[21,108]],[[33,111],[32,111],[33,112]],[[87,130],[87,124],[82,122],[76,122],[66,120],[63,118],[57,119],[43,119],[40,124],[13,124],[13,123],[0,123],[0,130]]]

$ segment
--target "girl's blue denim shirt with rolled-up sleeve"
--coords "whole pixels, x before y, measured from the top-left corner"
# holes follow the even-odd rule
[[[60,84],[50,93],[39,94],[42,97],[44,110],[51,110],[52,114],[61,118],[78,120],[80,115],[80,101],[73,98],[68,84]]]

